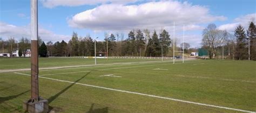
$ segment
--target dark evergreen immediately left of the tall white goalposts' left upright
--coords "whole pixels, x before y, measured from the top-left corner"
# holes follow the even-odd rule
[[[166,56],[167,53],[169,52],[169,47],[171,44],[171,38],[169,35],[169,32],[167,32],[166,30],[163,30],[160,33],[160,44],[163,45],[163,54]]]

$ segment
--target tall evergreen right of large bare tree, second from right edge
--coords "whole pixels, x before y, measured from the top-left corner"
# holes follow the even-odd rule
[[[246,54],[246,49],[245,49],[246,34],[245,34],[244,27],[239,25],[234,31],[234,36],[237,38],[237,46],[235,48],[235,51],[236,51],[235,57],[237,60],[242,60],[245,58],[245,54]]]

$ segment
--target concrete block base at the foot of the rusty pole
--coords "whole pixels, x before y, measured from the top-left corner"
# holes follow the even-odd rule
[[[23,102],[23,109],[28,112],[48,112],[49,111],[49,105],[48,100],[41,99],[39,101],[24,101]]]

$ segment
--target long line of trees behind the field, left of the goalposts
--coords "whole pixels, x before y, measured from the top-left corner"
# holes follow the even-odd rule
[[[96,41],[97,56],[133,56],[133,57],[161,57],[161,49],[163,48],[164,57],[172,56],[172,39],[166,30],[161,30],[158,34],[156,31],[149,30],[132,30],[124,38],[123,33],[105,33],[103,41]],[[0,39],[2,40],[2,39]],[[2,44],[1,44],[2,43]],[[95,40],[87,35],[78,37],[76,32],[72,33],[69,41],[48,41],[44,43],[39,38],[39,55],[41,57],[56,56],[56,57],[72,57],[72,56],[94,56]],[[25,54],[26,50],[30,49],[30,40],[22,38],[16,41],[14,38],[9,38],[6,41],[0,41],[2,48],[8,53],[15,50]],[[185,51],[188,52],[190,45],[185,43]],[[106,54],[106,52],[108,54]]]

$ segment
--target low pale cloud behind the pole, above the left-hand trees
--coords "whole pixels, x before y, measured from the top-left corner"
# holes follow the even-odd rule
[[[30,26],[15,26],[7,23],[0,22],[0,37],[3,39],[8,39],[9,37],[14,37],[16,40],[26,37],[30,39]],[[52,31],[45,30],[42,28],[38,29],[38,35],[44,41],[61,41],[69,40],[71,36],[65,36],[61,34],[55,34]]]

